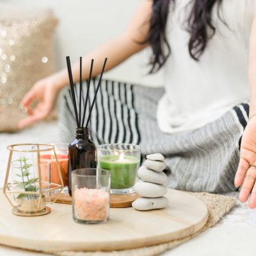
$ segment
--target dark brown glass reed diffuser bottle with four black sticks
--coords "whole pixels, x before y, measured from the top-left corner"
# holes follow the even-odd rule
[[[107,58],[105,58],[102,71],[99,78],[99,83],[97,84],[97,88],[95,91],[95,95],[93,97],[92,105],[90,106],[90,111],[88,113],[88,118],[86,120],[86,124],[84,125],[85,116],[86,116],[86,109],[88,105],[88,97],[90,92],[90,83],[92,79],[92,70],[93,70],[93,60],[91,62],[90,67],[90,74],[88,79],[88,86],[86,92],[86,100],[84,102],[84,111],[83,111],[83,118],[81,115],[81,99],[82,99],[82,58],[80,57],[80,83],[79,83],[79,113],[77,111],[77,103],[76,103],[76,95],[74,90],[74,83],[72,77],[72,70],[70,65],[70,58],[67,56],[67,68],[68,68],[68,77],[70,81],[70,90],[72,95],[72,102],[74,105],[74,112],[76,116],[76,138],[68,145],[68,193],[72,195],[72,171],[81,169],[81,168],[96,168],[97,167],[97,160],[96,160],[96,147],[92,140],[90,140],[89,135],[90,131],[88,129],[88,124],[90,122],[90,116],[92,114],[92,109],[95,104],[95,99],[97,93],[100,88],[100,83],[102,79],[102,75],[104,69],[106,67]],[[79,114],[79,115],[78,115]]]

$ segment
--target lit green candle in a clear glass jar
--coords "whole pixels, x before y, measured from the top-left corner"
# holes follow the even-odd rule
[[[134,193],[134,184],[140,167],[140,146],[106,144],[97,147],[98,166],[111,173],[111,194]]]

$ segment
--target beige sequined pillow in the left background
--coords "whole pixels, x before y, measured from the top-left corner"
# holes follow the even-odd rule
[[[26,113],[20,100],[33,84],[55,71],[50,10],[0,4],[0,132],[16,131]]]

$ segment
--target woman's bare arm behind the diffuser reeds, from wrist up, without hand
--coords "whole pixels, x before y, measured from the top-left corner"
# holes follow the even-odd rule
[[[147,46],[139,42],[143,42],[148,34],[148,21],[150,19],[151,10],[152,2],[143,0],[124,33],[104,42],[104,44],[99,45],[83,57],[83,79],[88,79],[92,59],[94,59],[93,77],[95,77],[100,74],[105,57],[108,57],[105,69],[107,71],[127,60],[127,58],[131,57],[133,54],[140,52]],[[79,61],[72,65],[72,73],[74,81],[79,81]],[[61,81],[59,84],[60,88],[69,83],[66,69],[54,76]]]

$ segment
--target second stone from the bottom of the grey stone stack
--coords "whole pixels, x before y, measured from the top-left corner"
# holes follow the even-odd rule
[[[165,186],[145,181],[137,182],[134,189],[138,195],[152,198],[161,197],[167,193]]]

